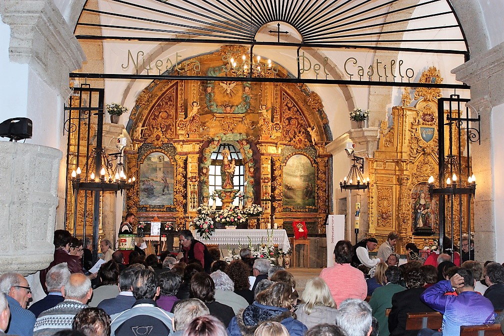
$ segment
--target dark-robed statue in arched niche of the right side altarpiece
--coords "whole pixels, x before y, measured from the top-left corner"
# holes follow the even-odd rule
[[[412,232],[438,229],[437,199],[430,198],[427,182],[420,182],[411,191]]]

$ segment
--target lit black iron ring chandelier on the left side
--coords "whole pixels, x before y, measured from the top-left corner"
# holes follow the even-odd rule
[[[118,140],[119,148],[119,140]],[[81,167],[77,167],[76,170],[72,170],[72,187],[76,190],[95,190],[95,191],[117,191],[133,188],[133,183],[135,183],[135,176],[127,179],[124,173],[124,164],[122,163],[122,148],[119,148],[118,153],[110,154],[114,159],[110,160],[109,156],[105,153],[103,148],[95,148],[92,150],[88,162],[86,162],[85,168],[89,173],[82,176]],[[97,159],[99,158],[99,159]],[[117,163],[113,164],[113,161],[117,160]],[[93,169],[94,167],[94,169]]]

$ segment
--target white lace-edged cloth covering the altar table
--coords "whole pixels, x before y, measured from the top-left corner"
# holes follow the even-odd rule
[[[248,246],[249,238],[253,246],[261,243],[266,244],[268,243],[268,235],[271,242],[278,244],[278,247],[282,248],[282,250],[288,251],[290,249],[287,232],[283,229],[216,229],[208,240],[203,239],[196,231],[193,231],[194,238],[205,244],[241,245],[242,247]],[[223,247],[221,246],[221,248]]]

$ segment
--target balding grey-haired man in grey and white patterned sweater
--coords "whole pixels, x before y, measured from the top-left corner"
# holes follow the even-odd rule
[[[91,280],[83,274],[71,274],[63,288],[65,300],[43,311],[35,322],[34,336],[50,336],[59,330],[72,329],[75,315],[84,308],[93,295]]]

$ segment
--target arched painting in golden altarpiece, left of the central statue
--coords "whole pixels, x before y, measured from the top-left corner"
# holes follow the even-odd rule
[[[164,153],[151,153],[140,165],[140,205],[173,205],[173,165]]]

